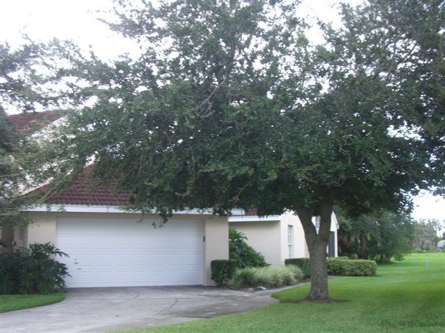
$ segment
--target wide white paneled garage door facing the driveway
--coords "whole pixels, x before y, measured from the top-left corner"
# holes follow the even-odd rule
[[[202,284],[202,221],[59,218],[67,287]]]

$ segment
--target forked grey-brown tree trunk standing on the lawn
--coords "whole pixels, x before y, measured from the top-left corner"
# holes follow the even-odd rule
[[[330,300],[330,297],[327,290],[326,251],[330,235],[332,203],[323,203],[321,206],[321,221],[318,233],[314,223],[312,223],[312,211],[300,208],[297,214],[305,230],[305,238],[311,260],[311,291],[309,296],[307,296],[307,300],[327,302]]]

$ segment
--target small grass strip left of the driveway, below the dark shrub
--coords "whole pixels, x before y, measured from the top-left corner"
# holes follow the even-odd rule
[[[30,307],[41,307],[60,302],[65,299],[65,293],[50,293],[48,295],[0,295],[0,312],[8,312]]]

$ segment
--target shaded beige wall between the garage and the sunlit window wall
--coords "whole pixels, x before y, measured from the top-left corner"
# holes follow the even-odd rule
[[[248,244],[262,255],[268,264],[282,266],[280,221],[230,222],[229,227],[243,232]]]

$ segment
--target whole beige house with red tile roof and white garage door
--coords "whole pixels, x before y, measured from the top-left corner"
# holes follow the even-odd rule
[[[27,135],[41,128],[30,129],[32,117],[14,117]],[[50,123],[60,117],[44,119]],[[159,216],[122,209],[128,200],[113,184],[96,187],[87,167],[64,191],[26,208],[30,223],[14,230],[10,243],[20,250],[51,242],[67,253],[69,257],[60,258],[71,275],[67,287],[213,285],[210,263],[228,258],[229,225],[247,234],[270,264],[308,256],[300,221],[291,213],[260,218],[234,210],[228,219],[189,210],[175,212],[162,228],[154,228]],[[337,228],[332,230],[336,242]],[[331,254],[337,255],[337,247],[332,248]]]

